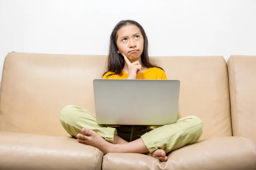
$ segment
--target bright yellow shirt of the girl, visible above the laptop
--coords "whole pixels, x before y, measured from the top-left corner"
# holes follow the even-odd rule
[[[128,74],[124,71],[122,71],[120,75],[115,74],[107,77],[109,74],[112,74],[112,72],[109,71],[106,73],[102,79],[127,79],[128,77]],[[137,74],[136,79],[167,79],[167,77],[163,70],[153,67],[148,68],[140,74]]]

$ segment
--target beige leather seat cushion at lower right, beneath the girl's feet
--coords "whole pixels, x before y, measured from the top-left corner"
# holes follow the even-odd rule
[[[250,139],[221,137],[187,145],[169,153],[167,162],[138,153],[108,153],[102,169],[112,170],[255,170],[256,150]]]

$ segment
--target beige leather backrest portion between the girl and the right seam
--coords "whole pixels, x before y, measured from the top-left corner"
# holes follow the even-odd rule
[[[221,56],[155,57],[168,79],[180,80],[178,116],[202,119],[201,139],[231,136],[227,63]]]

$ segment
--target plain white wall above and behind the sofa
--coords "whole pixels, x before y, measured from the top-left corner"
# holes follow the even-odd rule
[[[256,55],[255,9],[256,0],[0,0],[0,67],[10,51],[107,55],[124,19],[145,28],[150,56]]]

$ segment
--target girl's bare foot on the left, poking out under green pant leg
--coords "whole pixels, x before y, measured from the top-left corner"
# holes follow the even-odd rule
[[[93,130],[82,128],[81,133],[78,133],[76,136],[78,138],[77,141],[80,143],[97,147],[104,154],[109,153],[109,150],[112,148],[111,145],[113,144],[105,141],[101,136],[99,136]]]

